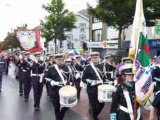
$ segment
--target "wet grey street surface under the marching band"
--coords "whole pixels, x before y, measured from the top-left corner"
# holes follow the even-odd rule
[[[26,103],[18,94],[18,80],[15,80],[11,64],[9,75],[3,78],[2,93],[0,95],[0,120],[55,120],[53,105],[46,95],[44,87],[41,99],[40,111],[33,109],[33,91],[30,92],[29,101]],[[109,120],[110,104],[107,103],[99,115],[100,120]],[[148,117],[145,116],[144,120]],[[81,93],[79,103],[71,108],[65,115],[64,120],[90,120],[88,114],[88,98],[85,90]]]

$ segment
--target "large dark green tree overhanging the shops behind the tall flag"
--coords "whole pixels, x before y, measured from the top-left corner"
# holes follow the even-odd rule
[[[121,49],[122,30],[133,23],[136,0],[98,0],[93,8],[88,5],[88,11],[94,17],[102,20],[108,26],[119,31],[118,48]],[[160,2],[158,0],[144,0],[144,15],[147,26],[154,26],[160,18]]]

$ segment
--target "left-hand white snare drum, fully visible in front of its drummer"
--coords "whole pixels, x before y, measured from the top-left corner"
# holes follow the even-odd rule
[[[60,104],[63,107],[73,107],[77,104],[77,90],[70,85],[59,90]]]

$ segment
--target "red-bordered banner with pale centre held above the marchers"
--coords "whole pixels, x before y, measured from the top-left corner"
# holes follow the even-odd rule
[[[25,51],[34,53],[42,50],[40,44],[40,31],[17,30],[16,36]]]

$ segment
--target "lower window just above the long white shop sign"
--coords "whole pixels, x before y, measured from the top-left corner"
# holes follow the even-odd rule
[[[92,31],[92,40],[102,41],[102,30],[101,29]]]

